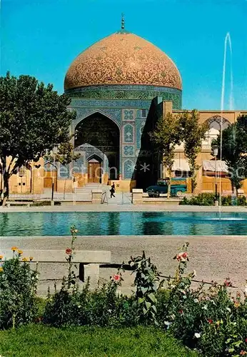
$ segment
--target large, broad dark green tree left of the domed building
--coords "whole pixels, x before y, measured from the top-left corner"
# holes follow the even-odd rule
[[[69,141],[74,113],[67,111],[70,99],[53,86],[34,77],[0,77],[0,170],[4,197],[9,197],[9,178],[22,165],[39,161],[54,144]]]

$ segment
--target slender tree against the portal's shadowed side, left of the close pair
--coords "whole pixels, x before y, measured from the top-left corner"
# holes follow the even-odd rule
[[[162,158],[168,176],[171,177],[175,146],[181,144],[181,124],[178,117],[171,113],[166,114],[165,119],[161,116],[149,135],[157,154]],[[170,196],[170,193],[171,181],[168,182],[167,197]]]

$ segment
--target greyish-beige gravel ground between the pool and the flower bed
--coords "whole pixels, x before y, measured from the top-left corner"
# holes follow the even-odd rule
[[[173,256],[188,241],[190,262],[188,271],[196,270],[196,279],[221,283],[230,277],[233,285],[243,288],[247,279],[247,236],[79,236],[79,250],[111,251],[112,263],[128,262],[130,256],[141,255],[156,264],[163,275],[173,276],[176,261]],[[65,249],[70,237],[0,237],[0,250],[16,245],[21,249]],[[56,268],[53,269],[56,273]],[[116,268],[101,268],[100,281],[105,281]],[[128,293],[133,275],[124,273],[121,292]]]

